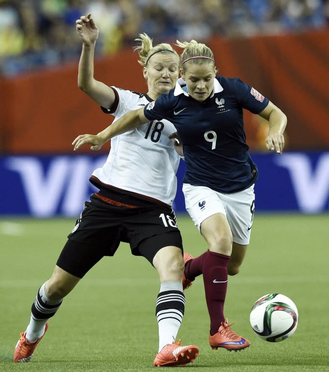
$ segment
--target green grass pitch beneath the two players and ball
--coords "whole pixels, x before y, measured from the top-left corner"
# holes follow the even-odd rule
[[[187,252],[207,248],[190,218],[178,216]],[[19,332],[30,319],[39,286],[50,277],[74,219],[0,220],[0,371],[140,372],[154,370],[158,348],[155,300],[158,275],[121,244],[69,294],[30,363],[12,362]],[[212,350],[202,278],[185,292],[179,338],[200,354],[186,371],[329,371],[329,215],[256,214],[251,244],[239,275],[229,277],[225,303],[232,329],[251,346],[239,353]],[[249,325],[253,302],[263,294],[289,296],[299,325],[289,339],[270,343]],[[182,368],[182,367],[175,367]]]

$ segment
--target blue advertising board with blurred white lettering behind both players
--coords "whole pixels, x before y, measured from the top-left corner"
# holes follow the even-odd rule
[[[256,164],[257,157],[259,161],[264,159],[262,156],[267,156],[260,169],[265,175],[265,187],[261,186],[260,179],[256,181],[259,185],[256,191],[256,210],[270,210],[269,198],[272,205],[274,202],[277,206],[276,210],[287,210],[289,202],[290,208],[304,213],[329,210],[329,152],[317,156],[302,152],[275,156],[254,154]],[[90,194],[95,190],[89,182],[90,175],[96,168],[102,167],[105,160],[106,155],[0,157],[3,180],[0,183],[0,215],[19,213],[33,217],[78,216],[84,202],[89,200]],[[183,167],[179,168],[179,172],[184,172]],[[280,188],[280,192],[277,195],[273,195],[273,192],[269,194],[266,189],[271,178],[278,181],[276,187]],[[181,184],[178,185],[179,189]],[[287,195],[287,189],[290,190],[290,196]],[[265,194],[263,198],[260,193]],[[262,199],[264,205],[259,203]],[[13,208],[14,203],[21,203],[21,200],[26,201],[27,206],[17,204]],[[179,205],[181,210],[176,212],[185,212],[184,202]]]

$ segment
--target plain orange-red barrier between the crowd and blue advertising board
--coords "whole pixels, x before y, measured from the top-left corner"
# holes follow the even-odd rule
[[[214,37],[207,44],[219,75],[241,78],[284,111],[287,150],[329,149],[329,30],[232,40]],[[137,58],[128,48],[98,60],[95,78],[146,93]],[[111,115],[78,89],[77,65],[78,61],[0,78],[1,153],[68,153],[77,135],[98,133],[112,122]],[[251,150],[264,149],[267,124],[245,112],[245,130]]]

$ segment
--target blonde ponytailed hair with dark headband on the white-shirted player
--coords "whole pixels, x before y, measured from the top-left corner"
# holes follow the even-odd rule
[[[138,55],[139,55],[138,63],[141,64],[143,67],[147,66],[153,54],[160,53],[160,52],[166,53],[166,54],[173,53],[179,59],[178,53],[170,44],[161,43],[153,47],[152,39],[145,32],[140,33],[139,37],[135,39],[135,41],[138,41],[141,43],[141,45],[134,47],[134,51],[136,50],[138,51]]]

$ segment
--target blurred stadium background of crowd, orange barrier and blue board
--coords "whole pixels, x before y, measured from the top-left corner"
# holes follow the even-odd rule
[[[0,215],[76,216],[91,171],[108,151],[73,155],[107,115],[77,88],[81,43],[75,20],[100,29],[95,77],[145,92],[134,39],[207,43],[219,73],[239,77],[288,117],[281,156],[264,150],[267,124],[245,113],[260,169],[257,211],[329,210],[329,1],[0,0]],[[179,168],[179,181],[184,164]],[[177,212],[185,212],[180,191]]]

